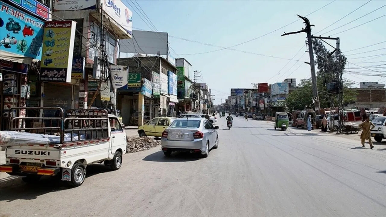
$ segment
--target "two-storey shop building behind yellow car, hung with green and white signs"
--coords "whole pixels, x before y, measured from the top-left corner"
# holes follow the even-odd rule
[[[177,68],[160,56],[118,58],[129,66],[128,84],[118,89],[117,108],[125,125],[141,126],[153,117],[173,115],[177,99]]]

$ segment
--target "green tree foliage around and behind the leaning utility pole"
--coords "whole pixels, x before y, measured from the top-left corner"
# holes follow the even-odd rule
[[[320,40],[313,41],[313,49],[317,64],[317,85],[320,100],[320,107],[328,108],[330,98],[334,106],[338,105],[338,97],[335,93],[329,93],[326,89],[327,83],[337,81],[339,73],[343,73],[346,64],[346,58],[343,54],[334,54],[326,49]],[[343,83],[343,101],[344,104],[353,103],[356,100],[356,91],[350,88],[353,83],[345,81]],[[296,90],[289,93],[286,104],[290,109],[304,109],[312,107],[312,82],[311,79],[302,79]]]

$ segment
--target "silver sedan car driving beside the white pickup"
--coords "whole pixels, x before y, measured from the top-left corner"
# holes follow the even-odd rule
[[[201,153],[206,158],[210,149],[218,147],[218,126],[213,127],[207,119],[176,119],[162,133],[161,147],[165,156],[173,151]]]

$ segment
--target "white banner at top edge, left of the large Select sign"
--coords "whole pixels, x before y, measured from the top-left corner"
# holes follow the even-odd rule
[[[97,0],[54,0],[54,11],[96,9]]]

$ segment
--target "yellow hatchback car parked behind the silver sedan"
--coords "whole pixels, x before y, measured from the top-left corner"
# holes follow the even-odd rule
[[[164,130],[166,128],[168,128],[169,125],[174,120],[176,120],[176,118],[173,118],[173,117],[155,117],[149,123],[144,124],[141,127],[138,127],[139,137],[143,137],[143,136],[161,137],[162,132],[164,132]]]

